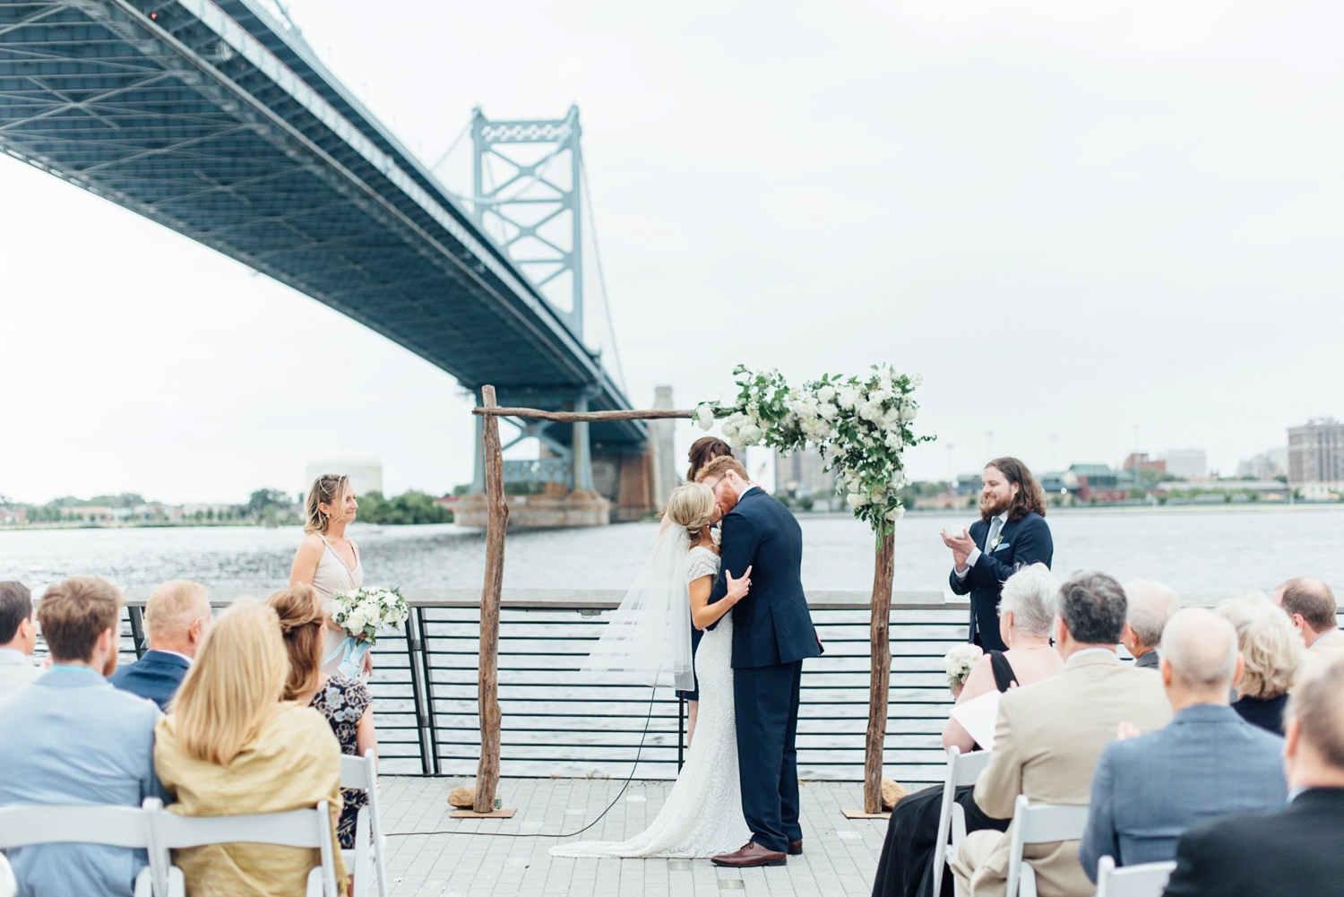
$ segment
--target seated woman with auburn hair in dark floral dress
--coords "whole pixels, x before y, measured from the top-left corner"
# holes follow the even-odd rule
[[[374,710],[368,689],[358,679],[341,674],[323,672],[323,605],[310,585],[297,585],[266,598],[280,617],[280,631],[289,654],[289,675],[285,679],[285,701],[297,701],[323,714],[331,725],[341,753],[363,757],[368,749],[378,749],[374,732]],[[343,792],[345,810],[341,811],[336,834],[341,847],[355,846],[355,816],[368,806],[368,795],[362,788]]]

